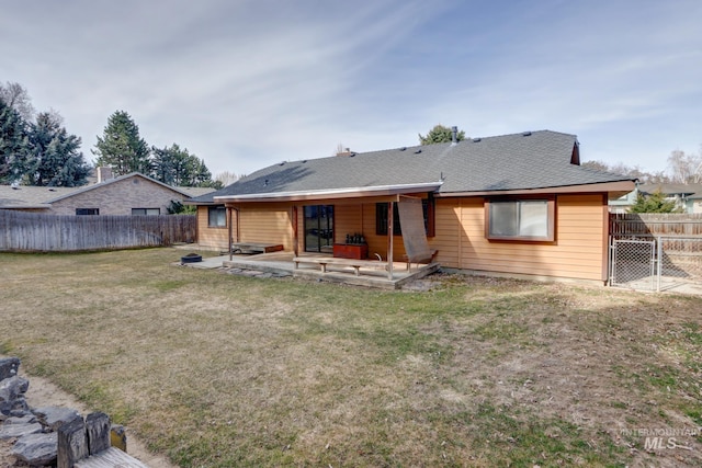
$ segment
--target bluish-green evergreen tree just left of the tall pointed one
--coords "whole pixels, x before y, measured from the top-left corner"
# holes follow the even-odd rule
[[[33,167],[25,174],[29,185],[80,186],[87,183],[90,167],[79,151],[81,140],[60,125],[60,116],[39,113],[32,126]]]

